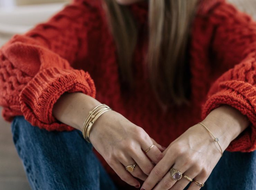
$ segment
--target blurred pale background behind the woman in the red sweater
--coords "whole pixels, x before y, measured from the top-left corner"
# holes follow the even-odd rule
[[[0,0],[0,46],[51,17],[71,0]],[[256,0],[228,0],[256,20]],[[2,108],[0,107],[0,112]],[[10,123],[0,116],[0,190],[29,190],[13,145]]]

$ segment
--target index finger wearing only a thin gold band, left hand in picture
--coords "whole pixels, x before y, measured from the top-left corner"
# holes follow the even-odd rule
[[[150,137],[141,142],[141,149],[143,149],[144,152],[149,149],[146,155],[155,164],[157,164],[164,156],[157,146],[154,145]]]

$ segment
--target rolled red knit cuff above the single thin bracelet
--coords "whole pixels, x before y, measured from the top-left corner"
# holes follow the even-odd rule
[[[247,129],[233,140],[226,150],[250,152],[256,149],[256,88],[242,81],[226,81],[211,95],[202,108],[202,119],[220,105],[230,105],[246,115],[251,122]]]

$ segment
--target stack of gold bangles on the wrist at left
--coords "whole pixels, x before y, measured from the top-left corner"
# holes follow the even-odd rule
[[[89,115],[87,116],[86,120],[84,121],[84,125],[83,125],[83,137],[87,142],[90,143],[89,135],[90,135],[90,131],[92,129],[92,125],[103,113],[105,113],[109,110],[112,110],[112,109],[108,105],[100,104],[100,105],[96,106],[92,111],[89,112]]]

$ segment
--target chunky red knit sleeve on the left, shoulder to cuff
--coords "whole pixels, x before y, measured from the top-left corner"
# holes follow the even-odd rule
[[[87,53],[86,40],[97,12],[90,2],[75,0],[0,49],[0,105],[6,121],[24,115],[32,125],[48,131],[74,129],[58,121],[52,109],[65,92],[95,97],[90,74],[72,67]]]

